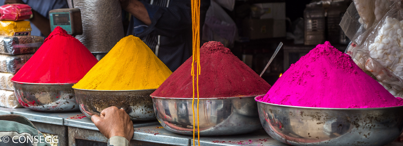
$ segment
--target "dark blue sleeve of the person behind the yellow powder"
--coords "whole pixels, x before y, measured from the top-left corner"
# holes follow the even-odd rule
[[[160,7],[141,1],[147,9],[151,25],[147,26],[135,17],[133,19],[133,35],[144,37],[153,33],[174,37],[192,26],[190,0],[170,0],[169,6]]]

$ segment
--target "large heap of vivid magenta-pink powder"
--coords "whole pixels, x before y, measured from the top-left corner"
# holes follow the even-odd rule
[[[322,108],[373,108],[403,105],[328,41],[291,65],[259,101]]]

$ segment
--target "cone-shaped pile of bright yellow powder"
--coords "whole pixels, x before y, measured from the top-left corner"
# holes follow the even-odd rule
[[[124,37],[73,88],[90,90],[156,89],[172,72],[147,45]]]

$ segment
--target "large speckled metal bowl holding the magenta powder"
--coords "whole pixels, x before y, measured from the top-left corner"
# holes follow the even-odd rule
[[[258,109],[264,130],[295,146],[384,146],[403,130],[403,106],[342,109],[258,101]]]

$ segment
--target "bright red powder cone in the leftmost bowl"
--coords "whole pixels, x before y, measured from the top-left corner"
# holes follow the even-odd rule
[[[76,83],[98,62],[88,49],[61,27],[11,79],[28,83]]]

